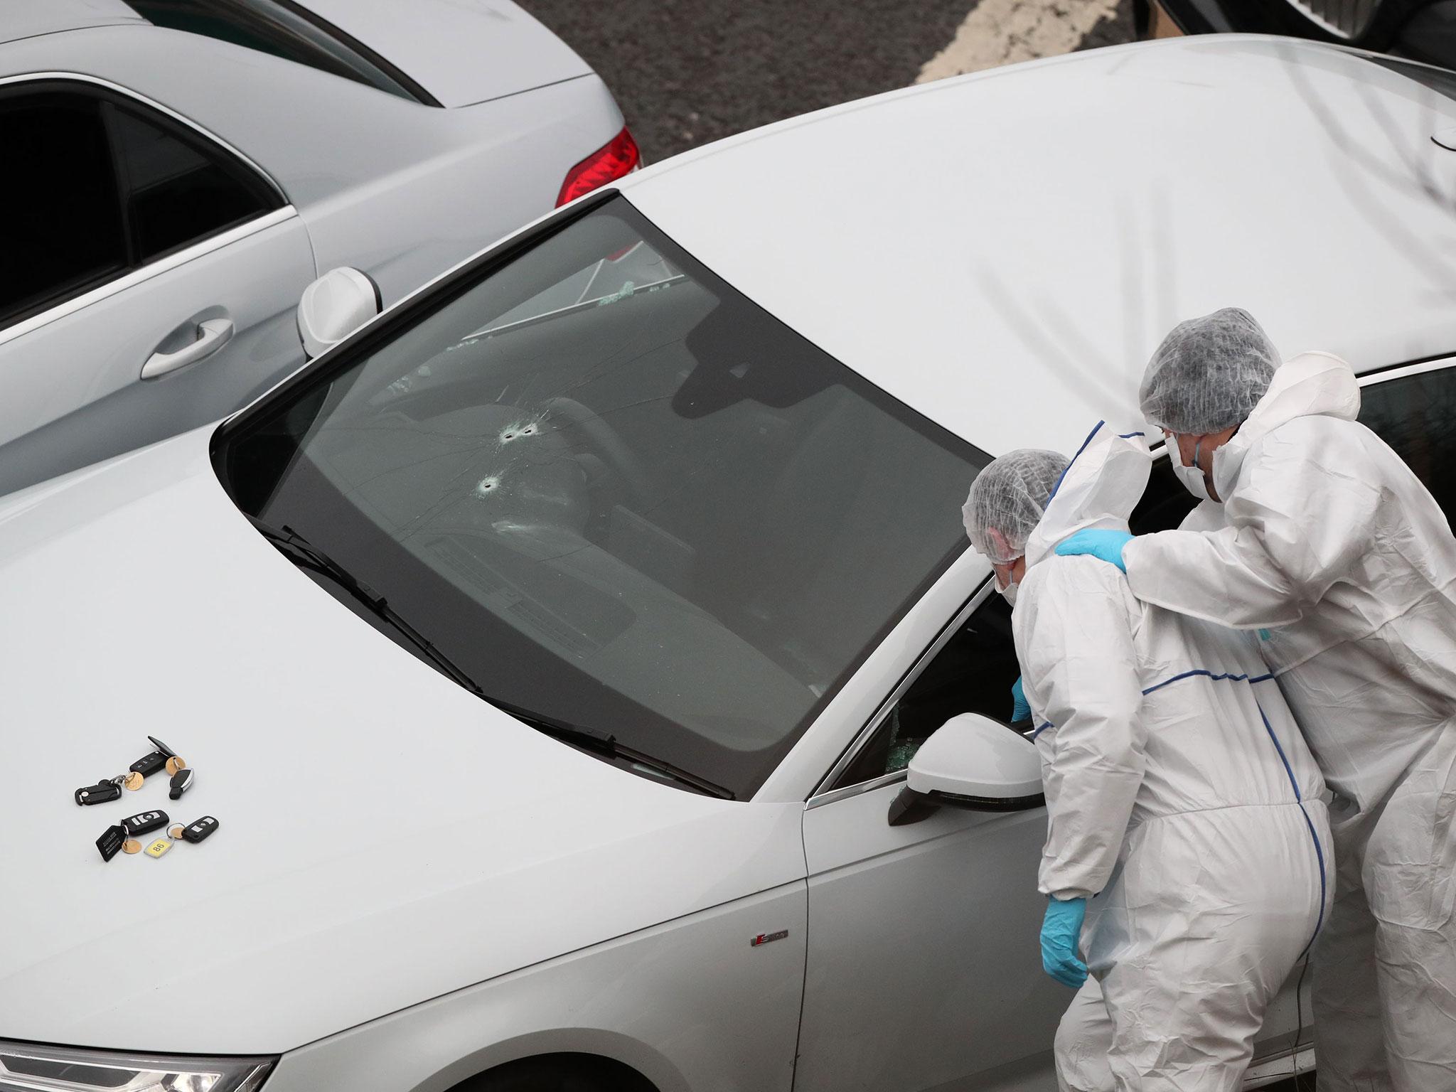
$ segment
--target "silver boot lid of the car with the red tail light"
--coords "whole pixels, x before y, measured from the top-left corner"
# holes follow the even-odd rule
[[[590,76],[591,66],[510,0],[306,0],[444,106]]]

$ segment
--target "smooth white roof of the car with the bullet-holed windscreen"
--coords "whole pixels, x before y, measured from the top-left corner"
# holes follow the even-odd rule
[[[622,189],[737,288],[994,453],[1140,424],[1162,336],[1251,310],[1293,357],[1456,351],[1456,102],[1217,35],[821,111]]]

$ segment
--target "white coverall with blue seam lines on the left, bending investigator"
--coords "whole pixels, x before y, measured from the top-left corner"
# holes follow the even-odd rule
[[[1140,438],[1099,427],[1026,543],[1012,614],[1041,725],[1041,891],[1089,898],[1093,977],[1057,1069],[1069,1089],[1232,1092],[1325,914],[1324,783],[1252,639],[1053,555],[1075,530],[1125,530],[1149,467]]]

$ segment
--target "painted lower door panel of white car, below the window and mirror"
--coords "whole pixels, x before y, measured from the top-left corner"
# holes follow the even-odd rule
[[[1032,942],[1047,906],[1037,891],[1045,811],[941,808],[891,827],[901,788],[804,814],[810,955],[795,1089],[1053,1088],[1047,1031],[1067,990]],[[987,1070],[1006,1072],[989,1082]]]

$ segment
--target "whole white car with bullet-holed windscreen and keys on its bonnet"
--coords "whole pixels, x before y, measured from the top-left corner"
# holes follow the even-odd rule
[[[1162,335],[1236,304],[1354,361],[1450,504],[1452,127],[1232,36],[850,103],[10,496],[0,1088],[1053,1089],[1072,993],[967,485],[1128,421]],[[1190,504],[1163,463],[1136,527]],[[76,805],[149,735],[179,799]],[[1291,983],[1249,1086],[1315,1063],[1307,1013]]]

